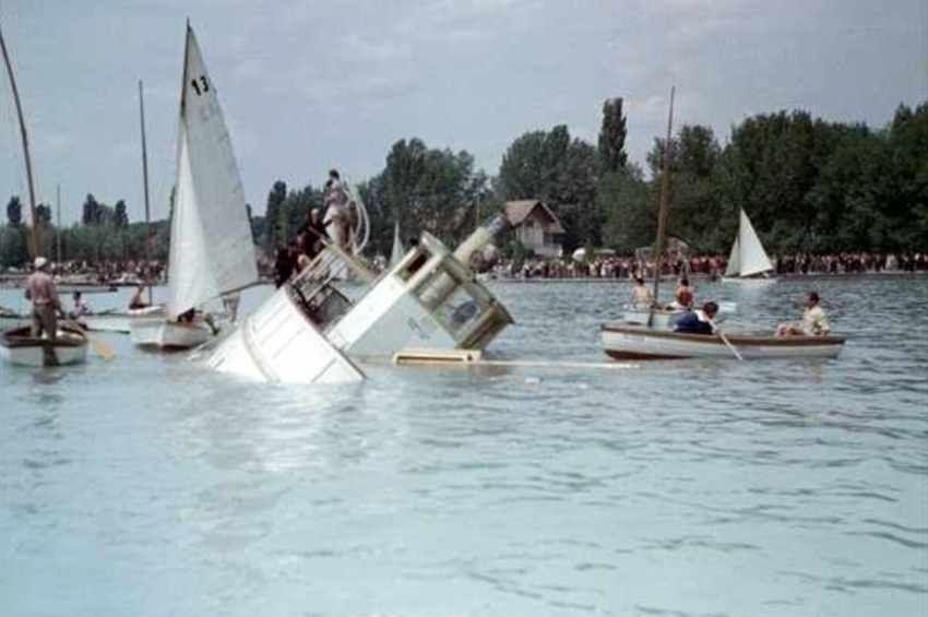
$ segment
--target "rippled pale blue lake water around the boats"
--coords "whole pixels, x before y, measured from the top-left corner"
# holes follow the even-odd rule
[[[698,297],[772,330],[810,285],[837,360],[274,387],[114,334],[0,366],[0,614],[926,615],[928,278]],[[590,361],[629,290],[492,287],[498,357]]]

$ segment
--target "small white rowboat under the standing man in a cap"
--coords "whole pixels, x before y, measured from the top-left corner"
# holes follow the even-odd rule
[[[82,364],[87,359],[87,337],[78,329],[59,325],[52,343],[32,335],[29,327],[13,328],[0,336],[0,357],[19,366]]]

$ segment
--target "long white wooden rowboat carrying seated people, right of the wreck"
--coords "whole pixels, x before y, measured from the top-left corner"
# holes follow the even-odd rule
[[[771,336],[726,334],[747,359],[834,358],[844,348],[843,336]],[[603,324],[603,348],[616,359],[733,358],[731,349],[715,334],[689,334],[642,325]]]

